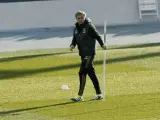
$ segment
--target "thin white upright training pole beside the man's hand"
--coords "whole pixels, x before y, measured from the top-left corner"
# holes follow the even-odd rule
[[[106,33],[107,33],[107,21],[104,22],[104,45],[106,44]],[[104,50],[104,58],[103,58],[103,100],[105,100],[106,95],[106,58],[107,58],[107,50]]]

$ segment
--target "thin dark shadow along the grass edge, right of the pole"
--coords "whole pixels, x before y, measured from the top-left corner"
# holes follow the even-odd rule
[[[127,45],[127,46],[115,46],[109,49],[126,49],[126,48],[145,48],[145,47],[158,47],[160,43],[147,43],[147,44],[138,44],[138,45]]]

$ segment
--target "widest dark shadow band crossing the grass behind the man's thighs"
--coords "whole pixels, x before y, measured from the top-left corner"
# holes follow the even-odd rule
[[[160,56],[160,52],[155,53],[147,53],[143,55],[135,55],[135,56],[127,56],[127,57],[118,57],[118,58],[112,58],[107,60],[107,64],[116,63],[116,62],[125,62],[125,61],[132,61],[132,60],[138,60],[138,59],[145,59],[145,58],[152,58]],[[94,62],[95,65],[100,65],[103,63],[103,60],[98,60]],[[45,72],[54,72],[54,71],[60,71],[60,70],[68,70],[68,69],[74,69],[80,66],[80,63],[72,64],[72,65],[62,65],[62,66],[55,66],[55,67],[49,67],[49,68],[40,68],[40,69],[32,69],[32,70],[3,70],[0,69],[0,79],[9,79],[9,78],[18,78],[28,75],[34,75],[38,73],[45,73]]]

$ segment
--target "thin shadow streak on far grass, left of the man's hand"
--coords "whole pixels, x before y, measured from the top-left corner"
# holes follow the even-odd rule
[[[54,56],[54,55],[63,55],[63,54],[72,54],[75,52],[61,52],[61,53],[49,53],[49,54],[37,54],[37,55],[25,55],[25,56],[16,56],[16,57],[7,57],[7,58],[0,58],[0,62],[10,62],[14,60],[24,60],[24,59],[31,59],[31,58],[38,58],[38,57],[47,57],[47,56]]]

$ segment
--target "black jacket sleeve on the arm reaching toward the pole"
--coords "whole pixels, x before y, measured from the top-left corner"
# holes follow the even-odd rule
[[[104,45],[103,40],[102,40],[99,32],[96,30],[96,28],[93,24],[90,24],[89,32],[90,32],[90,36],[92,38],[96,39],[101,46]]]

